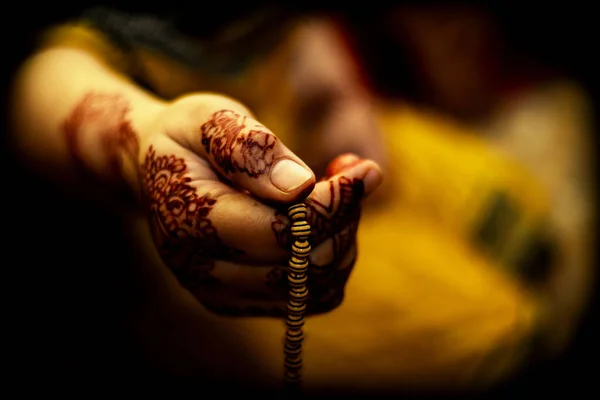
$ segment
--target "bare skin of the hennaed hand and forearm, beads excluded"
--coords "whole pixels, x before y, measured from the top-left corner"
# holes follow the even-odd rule
[[[238,102],[203,93],[158,99],[74,49],[32,56],[15,81],[12,106],[12,140],[23,161],[116,212],[145,215],[181,290],[219,314],[284,314],[284,210],[308,196],[309,312],[340,304],[356,258],[360,204],[382,178],[375,162],[333,160],[317,183]],[[280,161],[294,161],[308,179],[281,190],[271,179]]]

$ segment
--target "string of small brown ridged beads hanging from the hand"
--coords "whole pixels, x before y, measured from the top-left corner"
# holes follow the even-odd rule
[[[304,313],[308,288],[306,287],[308,256],[310,254],[310,225],[306,222],[306,205],[295,204],[288,208],[288,216],[292,222],[291,233],[292,256],[289,260],[287,331],[285,335],[285,381],[291,387],[299,386],[302,369],[302,341],[304,340]]]

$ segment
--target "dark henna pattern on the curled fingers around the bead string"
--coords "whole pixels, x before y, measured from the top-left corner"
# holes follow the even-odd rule
[[[364,195],[364,184],[360,179],[341,176],[329,181],[329,200],[321,203],[313,198],[305,201],[307,222],[311,226],[309,240],[316,248],[325,240],[333,241],[333,260],[328,265],[309,266],[309,303],[311,314],[337,307],[344,295],[344,285],[350,276],[356,257],[342,265],[352,247],[356,245],[356,233],[360,220],[360,202]],[[282,248],[291,246],[290,222],[287,212],[275,213],[271,224],[277,243]],[[285,292],[287,290],[286,269],[274,268],[267,276],[267,285]]]

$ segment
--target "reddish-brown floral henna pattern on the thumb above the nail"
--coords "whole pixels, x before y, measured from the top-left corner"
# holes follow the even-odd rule
[[[278,139],[257,123],[247,130],[247,119],[231,110],[217,111],[200,128],[202,144],[225,174],[257,178],[273,165]]]

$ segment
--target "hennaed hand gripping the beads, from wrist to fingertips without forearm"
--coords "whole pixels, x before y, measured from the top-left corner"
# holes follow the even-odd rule
[[[118,113],[88,115],[113,121]],[[124,139],[133,134],[129,129],[110,130],[120,132],[119,143],[129,143],[123,154],[137,154],[129,181],[148,213],[157,252],[205,307],[220,314],[284,315],[287,206],[309,194],[308,312],[341,302],[356,258],[360,203],[382,178],[377,164],[340,157],[330,176],[316,183],[306,164],[245,107],[215,95],[168,104],[139,126],[137,141]]]

